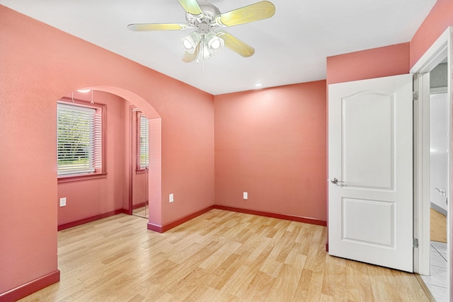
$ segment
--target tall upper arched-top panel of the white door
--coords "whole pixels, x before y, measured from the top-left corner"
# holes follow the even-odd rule
[[[349,186],[390,189],[394,168],[393,95],[357,93],[343,98],[341,113],[342,180]]]

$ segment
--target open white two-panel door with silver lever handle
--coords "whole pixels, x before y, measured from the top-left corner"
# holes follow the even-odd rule
[[[412,75],[328,86],[328,252],[413,271]]]

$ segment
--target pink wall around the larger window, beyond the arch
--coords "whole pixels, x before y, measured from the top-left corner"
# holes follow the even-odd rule
[[[71,94],[67,96],[71,98]],[[74,92],[74,98],[91,100],[91,93]],[[122,190],[126,171],[119,163],[122,163],[125,149],[129,146],[122,135],[122,123],[127,118],[122,110],[125,100],[103,91],[93,91],[93,100],[98,104],[106,105],[107,177],[59,183],[58,199],[66,197],[67,206],[58,207],[58,225],[122,209]]]

